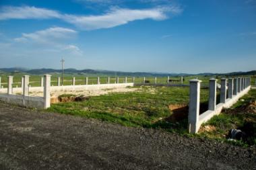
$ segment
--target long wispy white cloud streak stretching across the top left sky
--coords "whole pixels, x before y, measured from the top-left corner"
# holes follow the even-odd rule
[[[0,20],[3,19],[49,19],[57,18],[73,24],[82,30],[113,28],[138,19],[167,19],[183,10],[176,6],[154,7],[150,9],[123,9],[113,7],[102,15],[71,15],[51,9],[37,7],[1,7]]]

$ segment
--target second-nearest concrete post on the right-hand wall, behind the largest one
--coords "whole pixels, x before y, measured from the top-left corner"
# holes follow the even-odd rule
[[[208,110],[216,110],[216,79],[210,79]]]

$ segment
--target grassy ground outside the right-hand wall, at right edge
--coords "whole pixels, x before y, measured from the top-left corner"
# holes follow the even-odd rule
[[[224,110],[222,114],[214,116],[203,128],[210,127],[212,130],[203,130],[199,136],[224,140],[240,146],[256,145],[256,90],[251,89],[232,108]],[[202,129],[203,129],[202,128]],[[228,132],[232,128],[240,129],[247,134],[245,140],[229,141]]]

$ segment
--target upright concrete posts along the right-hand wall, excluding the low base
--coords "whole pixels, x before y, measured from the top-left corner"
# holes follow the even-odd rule
[[[216,110],[216,79],[210,79],[209,83],[209,100],[208,110]],[[189,81],[190,94],[189,94],[189,132],[196,133],[199,129],[199,105],[200,105],[200,84],[199,79],[192,79]],[[228,84],[228,86],[227,86]],[[226,103],[227,99],[232,99],[234,95],[237,95],[247,87],[251,85],[251,78],[238,77],[221,79],[220,87],[220,103]],[[228,93],[227,93],[228,91]]]

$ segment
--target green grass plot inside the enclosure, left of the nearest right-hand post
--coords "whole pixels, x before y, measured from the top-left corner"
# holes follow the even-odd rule
[[[207,101],[207,90],[201,90],[201,100]],[[170,122],[168,105],[189,102],[188,87],[142,87],[139,91],[110,93],[90,97],[86,101],[52,104],[49,111],[95,118],[123,126],[162,128],[172,132],[187,132],[187,118]]]

